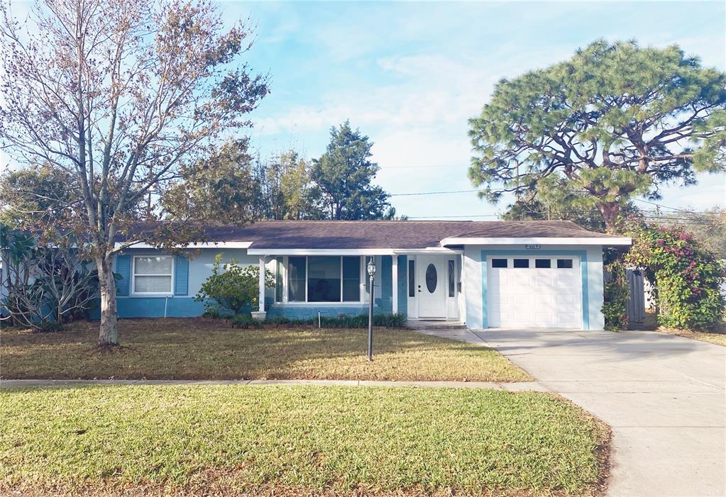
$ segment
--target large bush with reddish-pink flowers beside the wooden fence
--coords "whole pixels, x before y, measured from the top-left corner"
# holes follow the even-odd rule
[[[653,284],[658,323],[669,328],[714,329],[726,302],[720,286],[725,271],[716,256],[679,226],[632,223],[633,246],[626,262],[645,269]]]

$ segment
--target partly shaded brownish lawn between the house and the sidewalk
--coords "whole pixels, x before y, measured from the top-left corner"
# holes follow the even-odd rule
[[[0,377],[52,379],[530,380],[496,350],[400,329],[233,329],[213,319],[124,319],[121,349],[99,352],[97,324],[0,332]]]

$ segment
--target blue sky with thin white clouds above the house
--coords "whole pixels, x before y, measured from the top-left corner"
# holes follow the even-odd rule
[[[251,67],[272,94],[254,115],[262,155],[325,149],[349,118],[375,142],[377,182],[391,194],[472,189],[467,120],[500,78],[566,59],[596,38],[679,44],[726,70],[726,7],[716,2],[233,2],[257,25]],[[229,17],[228,17],[229,16]],[[726,176],[664,189],[677,208],[726,205]],[[401,214],[493,216],[474,193],[394,196]],[[483,217],[486,219],[486,217]],[[493,218],[493,217],[490,217]]]

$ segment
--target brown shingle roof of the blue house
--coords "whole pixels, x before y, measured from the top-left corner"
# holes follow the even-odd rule
[[[153,226],[139,223],[137,232]],[[439,247],[451,237],[609,237],[571,221],[258,221],[209,224],[204,231],[207,242],[253,242],[255,249],[414,249]]]

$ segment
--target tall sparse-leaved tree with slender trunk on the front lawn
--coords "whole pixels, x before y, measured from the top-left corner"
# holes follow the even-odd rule
[[[99,346],[117,345],[112,260],[131,243],[129,212],[251,126],[268,92],[240,62],[250,28],[225,30],[208,1],[46,0],[25,22],[1,14],[0,140],[18,163],[72,178],[79,198],[64,229],[98,270]],[[192,231],[143,238],[182,244]]]

